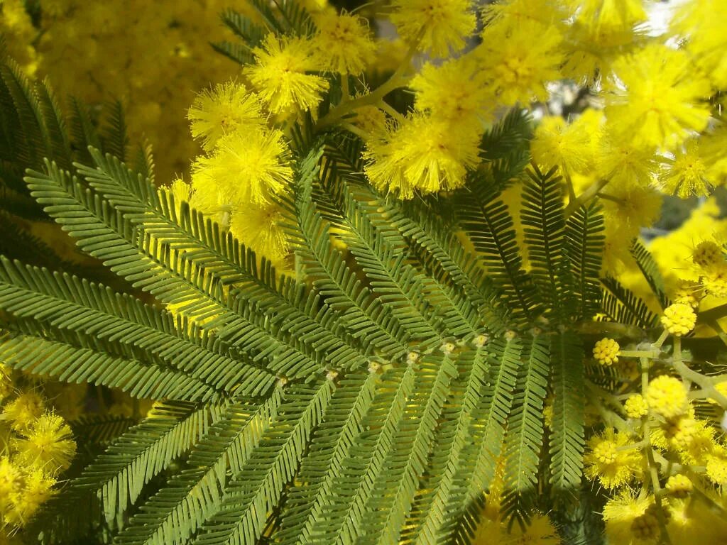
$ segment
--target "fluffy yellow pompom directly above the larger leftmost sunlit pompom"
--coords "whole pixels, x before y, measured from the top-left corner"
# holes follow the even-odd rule
[[[257,95],[243,84],[228,81],[197,95],[187,117],[192,136],[211,151],[227,134],[238,129],[254,130],[265,124]]]

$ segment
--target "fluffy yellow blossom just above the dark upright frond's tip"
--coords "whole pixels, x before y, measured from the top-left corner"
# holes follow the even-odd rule
[[[546,116],[535,129],[530,153],[546,170],[560,166],[569,173],[584,171],[591,159],[587,126],[568,124],[561,116]]]

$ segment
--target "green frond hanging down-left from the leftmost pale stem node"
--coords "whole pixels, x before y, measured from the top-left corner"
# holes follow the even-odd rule
[[[233,403],[206,429],[181,472],[140,507],[119,535],[123,545],[188,543],[225,498],[281,408],[281,389],[263,403]]]

